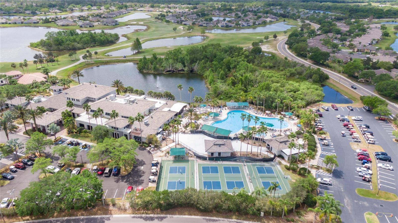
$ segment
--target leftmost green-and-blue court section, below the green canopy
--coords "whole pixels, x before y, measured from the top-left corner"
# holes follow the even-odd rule
[[[163,160],[160,164],[156,189],[182,190],[195,188],[194,162],[188,160]]]

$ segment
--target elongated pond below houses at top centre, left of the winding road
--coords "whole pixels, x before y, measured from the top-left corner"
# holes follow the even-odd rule
[[[290,29],[291,27],[294,27],[294,25],[286,25],[286,22],[279,22],[279,23],[274,23],[271,25],[265,25],[265,26],[260,26],[260,27],[254,27],[254,28],[246,28],[246,29],[213,29],[213,30],[207,30],[207,32],[211,33],[263,33],[263,32],[273,32],[273,31],[285,31],[287,29]]]

